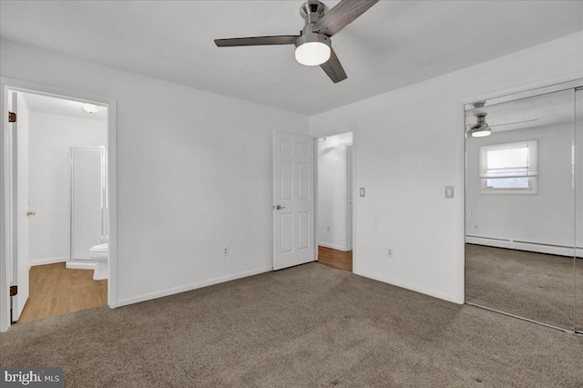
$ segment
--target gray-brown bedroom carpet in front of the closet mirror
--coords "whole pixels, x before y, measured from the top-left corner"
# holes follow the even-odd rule
[[[16,324],[67,387],[580,387],[583,338],[318,263]]]

